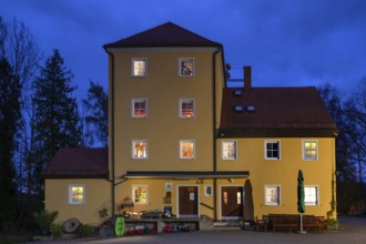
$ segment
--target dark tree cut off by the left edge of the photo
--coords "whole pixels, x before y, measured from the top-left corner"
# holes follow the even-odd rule
[[[0,231],[16,217],[13,152],[21,122],[21,84],[8,60],[0,59]]]

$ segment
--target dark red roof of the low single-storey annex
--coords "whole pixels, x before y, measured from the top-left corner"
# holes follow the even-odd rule
[[[45,179],[108,179],[108,149],[60,149],[44,170]]]

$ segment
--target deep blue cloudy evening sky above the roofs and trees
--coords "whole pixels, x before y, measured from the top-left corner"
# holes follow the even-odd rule
[[[80,98],[90,79],[106,87],[103,44],[167,21],[221,42],[232,78],[252,65],[254,87],[349,92],[366,75],[364,0],[0,0],[0,16],[23,20],[44,59],[60,50]]]

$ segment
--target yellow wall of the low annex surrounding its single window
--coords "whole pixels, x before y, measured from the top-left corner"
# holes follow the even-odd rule
[[[69,185],[85,186],[85,203],[69,204]],[[77,217],[83,224],[98,226],[102,220],[99,211],[108,210],[111,216],[111,184],[105,180],[45,180],[45,210],[58,211],[54,223],[63,224],[64,221]]]

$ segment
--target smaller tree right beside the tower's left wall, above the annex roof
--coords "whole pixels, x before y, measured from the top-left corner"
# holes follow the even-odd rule
[[[108,93],[102,85],[90,81],[88,98],[82,103],[87,145],[108,146]]]

